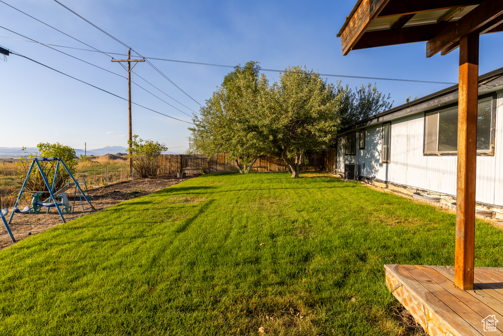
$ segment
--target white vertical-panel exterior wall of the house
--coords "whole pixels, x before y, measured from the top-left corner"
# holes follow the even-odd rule
[[[476,200],[503,206],[503,92],[497,94],[493,156],[477,156]],[[418,189],[456,195],[457,156],[423,154],[425,113],[391,120],[390,162],[381,162],[382,123],[365,128],[365,149],[345,154],[345,138],[339,138],[337,170],[344,174],[346,163],[356,163],[359,175]]]

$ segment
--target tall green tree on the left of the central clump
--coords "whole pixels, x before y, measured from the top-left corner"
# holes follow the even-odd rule
[[[260,97],[268,81],[259,71],[255,61],[236,66],[206,101],[200,116],[194,115],[195,126],[189,128],[196,151],[207,156],[226,153],[241,173],[247,173],[259,156],[271,151],[260,128]]]

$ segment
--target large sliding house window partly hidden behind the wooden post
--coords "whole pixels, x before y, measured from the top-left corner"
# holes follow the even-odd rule
[[[477,152],[492,154],[494,145],[493,97],[478,100]],[[458,106],[427,112],[425,117],[425,155],[456,155],[458,150]]]

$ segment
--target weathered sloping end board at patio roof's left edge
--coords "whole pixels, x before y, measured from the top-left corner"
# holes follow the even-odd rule
[[[389,0],[363,0],[341,35],[343,54],[347,55],[367,27],[379,15]]]

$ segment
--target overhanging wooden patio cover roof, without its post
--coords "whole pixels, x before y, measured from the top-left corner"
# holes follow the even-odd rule
[[[426,56],[431,57],[456,49],[462,36],[475,31],[503,31],[503,1],[359,0],[337,37],[344,55],[354,49],[427,41]]]

